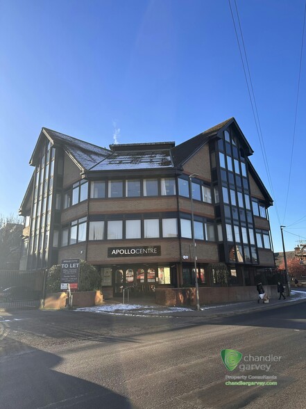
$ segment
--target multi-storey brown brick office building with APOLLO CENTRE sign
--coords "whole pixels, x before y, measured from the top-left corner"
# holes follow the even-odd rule
[[[24,196],[21,269],[80,258],[120,294],[137,284],[213,286],[224,262],[231,284],[255,284],[274,266],[269,193],[234,118],[176,146],[110,145],[110,150],[42,128]],[[192,211],[193,209],[193,211]],[[194,216],[194,229],[192,228]]]

